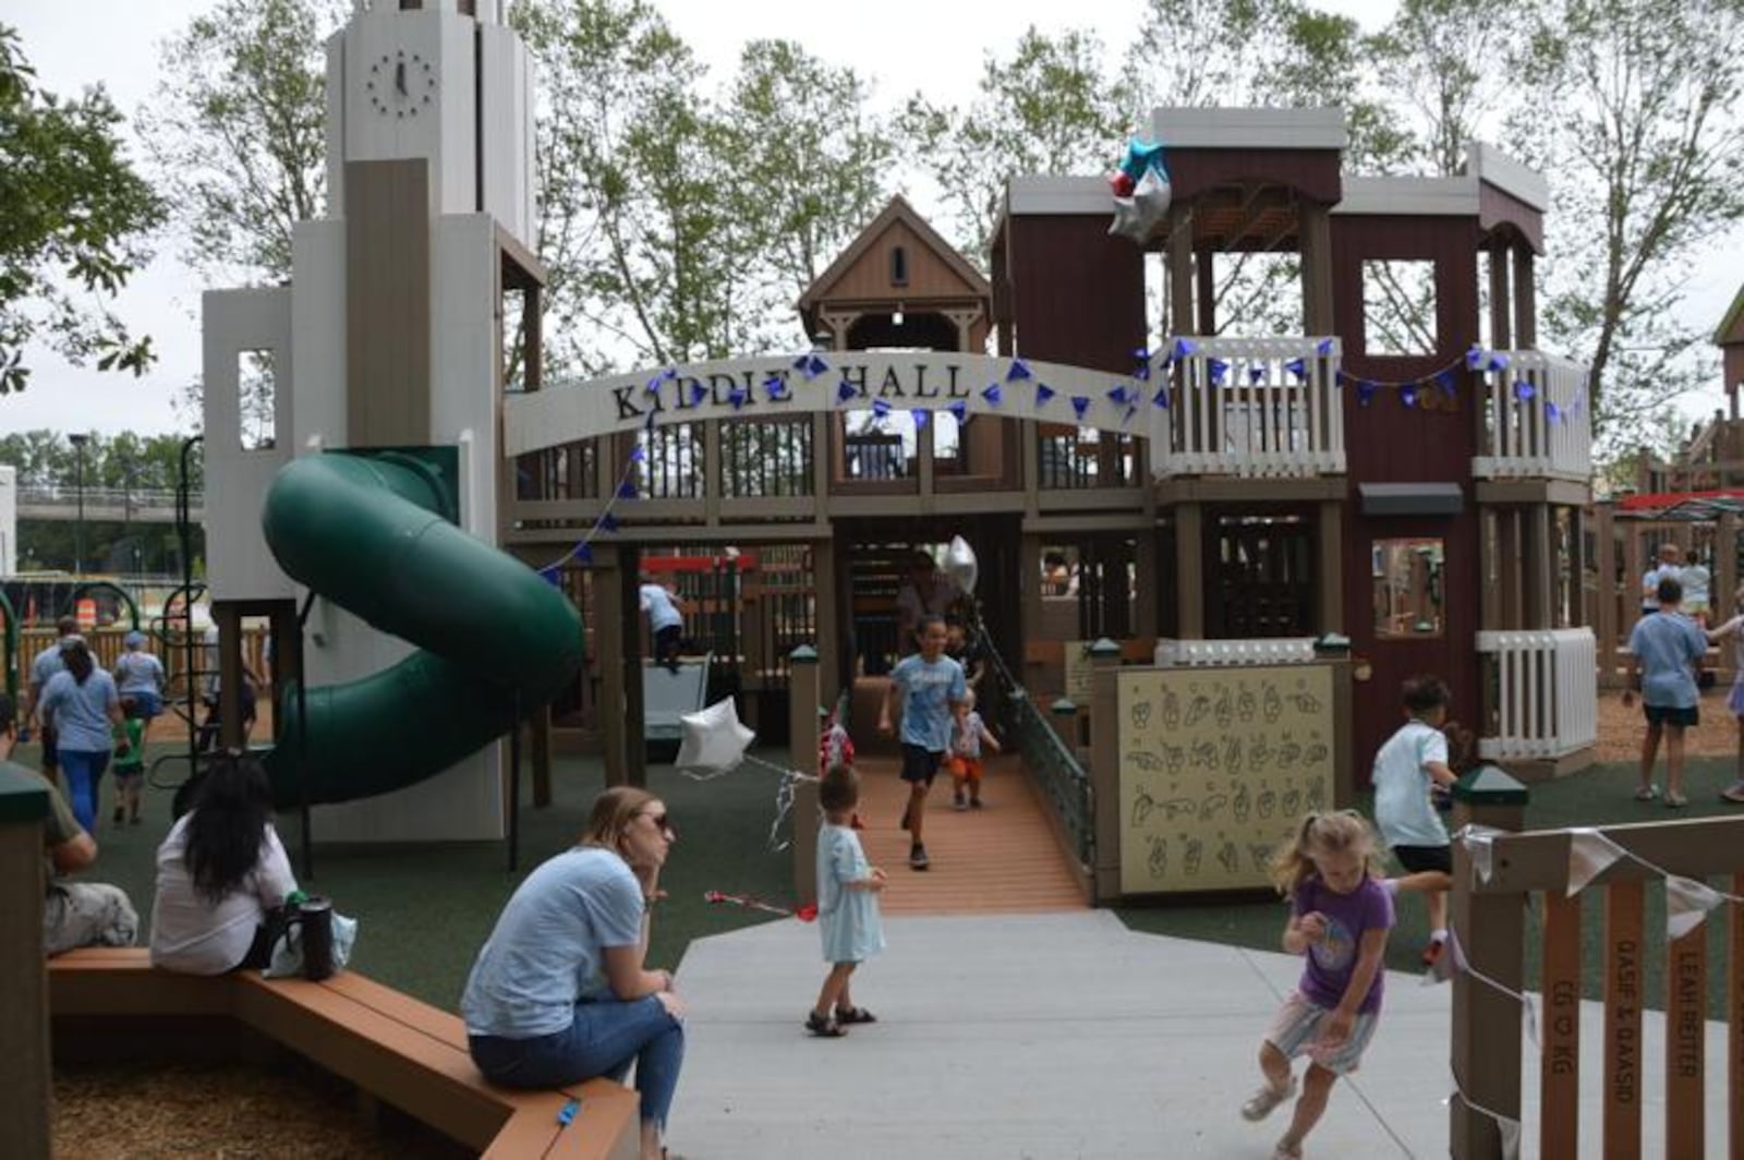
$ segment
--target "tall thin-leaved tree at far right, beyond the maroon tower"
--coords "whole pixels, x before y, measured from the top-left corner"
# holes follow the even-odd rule
[[[1679,304],[1690,260],[1744,216],[1741,58],[1741,0],[1556,0],[1514,70],[1514,133],[1554,190],[1543,330],[1591,366],[1601,452],[1707,375]]]

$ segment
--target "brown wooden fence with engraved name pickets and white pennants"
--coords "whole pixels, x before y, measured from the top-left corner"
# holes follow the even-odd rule
[[[1461,788],[1465,788],[1461,785]],[[1517,783],[1516,783],[1516,788]],[[1460,790],[1456,790],[1460,795]],[[1474,797],[1482,799],[1482,792]],[[1516,806],[1524,799],[1519,794]],[[1502,820],[1509,804],[1472,806],[1461,816]],[[1519,809],[1514,809],[1519,816]],[[1488,846],[1488,874],[1475,872]],[[1578,865],[1608,865],[1580,881]],[[1571,874],[1575,897],[1570,897]],[[1660,881],[1679,888],[1714,879],[1734,902],[1718,902],[1706,919],[1671,937],[1645,921],[1648,891]],[[1582,961],[1582,900],[1603,893],[1603,933],[1598,963]],[[1679,823],[1615,825],[1596,830],[1496,834],[1488,843],[1454,843],[1453,930],[1465,970],[1453,975],[1453,1066],[1458,1095],[1451,1101],[1451,1155],[1503,1155],[1505,1129],[1521,1122],[1523,1013],[1521,996],[1535,987],[1538,1151],[1561,1157],[1744,1157],[1744,818],[1704,818]],[[1524,977],[1529,914],[1542,914],[1540,977]],[[1728,914],[1730,911],[1730,914]],[[1725,926],[1723,961],[1709,963],[1709,923]],[[1648,994],[1646,965],[1664,963],[1660,994]],[[1582,984],[1599,972],[1604,994],[1603,1059],[1598,1075],[1584,1062]],[[1707,1106],[1709,970],[1725,972],[1725,1102]],[[1648,1059],[1643,1008],[1664,1008],[1664,1057]],[[1585,1059],[1584,1059],[1585,1055]],[[1585,1101],[1584,1083],[1585,1076]],[[1601,1115],[1591,1115],[1598,1088]],[[1643,1106],[1664,1101],[1664,1141],[1643,1141]],[[1584,1115],[1584,1106],[1587,1113]],[[1714,1115],[1711,1115],[1714,1113]],[[1727,1139],[1707,1136],[1709,1120],[1725,1123]]]

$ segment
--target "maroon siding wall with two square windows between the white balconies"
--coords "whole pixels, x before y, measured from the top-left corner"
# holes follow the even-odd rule
[[[1332,218],[1332,310],[1345,340],[1345,372],[1380,382],[1411,380],[1448,366],[1477,342],[1477,220],[1407,216]],[[1435,262],[1434,356],[1373,358],[1364,352],[1362,263],[1366,260]],[[1352,506],[1345,525],[1345,621],[1357,656],[1371,661],[1374,677],[1355,703],[1357,783],[1381,741],[1399,727],[1399,689],[1407,677],[1435,673],[1453,689],[1449,715],[1475,720],[1479,628],[1479,525],[1472,488],[1479,413],[1472,384],[1461,372],[1458,398],[1449,410],[1434,386],[1420,392],[1418,406],[1404,406],[1399,391],[1381,387],[1369,406],[1345,389],[1345,441]],[[1360,483],[1458,483],[1465,511],[1449,518],[1364,516]],[[1381,539],[1437,537],[1444,542],[1444,628],[1439,637],[1378,640],[1374,633],[1373,544]]]

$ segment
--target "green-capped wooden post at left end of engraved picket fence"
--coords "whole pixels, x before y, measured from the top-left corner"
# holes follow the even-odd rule
[[[1519,830],[1526,799],[1524,785],[1495,766],[1479,766],[1453,787],[1453,823]],[[1474,874],[1472,855],[1454,843],[1453,933],[1474,970],[1519,993],[1526,940],[1519,897],[1481,895],[1472,890]],[[1453,1082],[1456,1094],[1448,1111],[1454,1160],[1500,1157],[1502,1134],[1489,1113],[1521,1118],[1521,1010],[1512,996],[1467,972],[1453,975]]]

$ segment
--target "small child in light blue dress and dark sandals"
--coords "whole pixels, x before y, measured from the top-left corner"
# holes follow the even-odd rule
[[[884,926],[877,916],[884,870],[867,863],[860,836],[853,830],[860,776],[851,766],[830,766],[823,773],[818,804],[823,808],[818,829],[818,931],[830,973],[818,993],[818,1005],[806,1017],[806,1029],[834,1040],[848,1034],[848,1024],[877,1022],[872,1012],[855,1006],[848,979],[860,963],[884,949]]]

